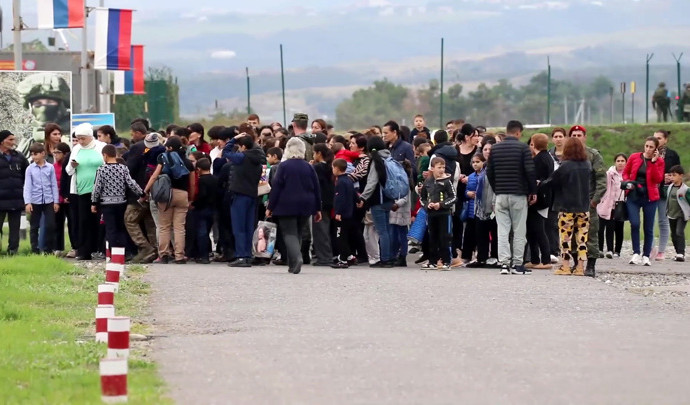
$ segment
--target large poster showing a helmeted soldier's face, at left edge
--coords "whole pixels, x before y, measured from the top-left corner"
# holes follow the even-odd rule
[[[15,135],[24,155],[32,143],[44,141],[49,122],[68,135],[71,108],[71,72],[0,71],[0,130]]]

